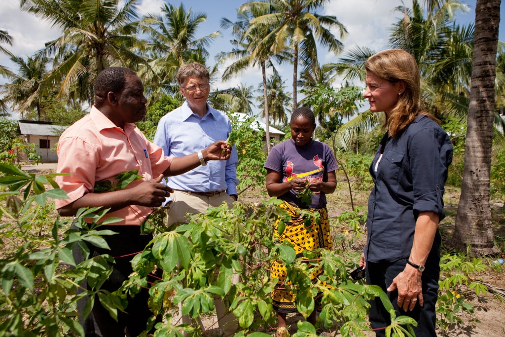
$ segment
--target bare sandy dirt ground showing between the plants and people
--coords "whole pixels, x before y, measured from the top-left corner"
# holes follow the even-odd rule
[[[39,164],[37,166],[25,165],[22,169],[29,173],[36,174],[49,174],[55,173],[56,164]],[[337,191],[328,195],[328,215],[330,218],[336,218],[343,211],[351,209],[349,192],[346,184],[339,179]],[[267,198],[266,194],[261,191],[245,192],[239,196],[242,202],[259,202],[262,198]],[[366,200],[368,198],[367,192],[360,192],[354,196],[355,206],[362,205],[366,209]],[[453,224],[455,221],[458,201],[459,190],[456,188],[447,188],[444,195],[445,210],[447,213],[446,219],[440,223],[440,229],[444,239],[450,237],[452,233]],[[499,210],[503,203],[494,204],[493,208],[497,209],[494,215],[494,222],[497,223],[496,228],[493,228],[494,234],[497,237],[505,237],[505,211]],[[330,220],[331,221],[331,220]],[[442,243],[443,244],[443,243]],[[496,258],[496,257],[495,257]],[[501,257],[503,258],[503,256]],[[488,259],[490,260],[490,259]],[[505,267],[505,266],[504,266]],[[486,272],[475,275],[475,280],[480,280],[487,285],[490,285],[487,294],[480,296],[473,296],[471,298],[472,304],[475,307],[474,317],[480,322],[475,323],[475,326],[450,326],[446,331],[438,329],[437,333],[440,336],[456,337],[456,336],[483,336],[483,337],[505,337],[505,298],[502,295],[493,293],[493,288],[503,291],[505,287],[505,268],[496,268],[487,270]],[[461,315],[464,321],[467,321],[466,314]],[[288,323],[291,325],[290,332],[294,332],[296,322],[303,319],[300,315],[288,316]],[[202,318],[203,324],[207,330],[207,336],[218,336],[219,327],[217,324],[216,316],[209,315]],[[273,331],[270,331],[273,334]],[[327,330],[327,335],[339,336],[335,331]],[[367,336],[372,336],[369,333]]]

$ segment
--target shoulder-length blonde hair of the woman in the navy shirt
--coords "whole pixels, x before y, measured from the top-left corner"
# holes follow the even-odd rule
[[[398,102],[386,113],[384,127],[389,135],[396,137],[398,132],[412,123],[419,114],[423,114],[440,124],[440,121],[421,107],[421,83],[417,62],[406,51],[388,49],[372,55],[365,62],[365,69],[377,77],[391,83],[405,83],[405,91],[398,97]]]

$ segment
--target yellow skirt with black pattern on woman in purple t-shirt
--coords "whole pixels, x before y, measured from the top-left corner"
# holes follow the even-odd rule
[[[280,205],[280,207],[287,210],[289,215],[291,216],[291,222],[286,223],[286,229],[282,236],[279,237],[280,240],[288,240],[292,245],[296,252],[296,257],[298,259],[304,259],[303,252],[314,251],[318,249],[327,249],[331,250],[331,237],[330,237],[330,222],[328,221],[328,212],[326,208],[311,208],[311,212],[319,212],[319,224],[316,224],[312,221],[312,226],[310,228],[306,228],[305,221],[303,218],[300,218],[299,209],[287,202],[284,202]],[[277,225],[279,220],[275,223],[274,233],[278,235]],[[319,275],[323,273],[322,265],[308,265],[311,270],[311,280],[312,283],[315,284],[317,282],[317,278]],[[278,278],[279,282],[275,286],[272,291],[272,304],[274,309],[280,313],[290,313],[297,312],[294,294],[291,293],[289,289],[286,289],[284,286],[284,282],[286,279],[286,267],[284,264],[279,262],[274,262],[272,264],[272,270],[270,272],[270,277]],[[321,311],[321,298],[323,294],[318,293],[318,295],[314,298],[316,302],[316,310],[318,312]]]

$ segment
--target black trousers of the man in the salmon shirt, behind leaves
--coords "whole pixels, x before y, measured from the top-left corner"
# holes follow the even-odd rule
[[[129,255],[144,250],[145,246],[153,238],[153,235],[140,235],[140,226],[110,226],[105,225],[100,229],[109,229],[118,234],[107,235],[111,250],[101,249],[86,243],[90,250],[90,257],[109,254],[114,257],[113,272],[109,279],[101,287],[109,292],[114,292],[128,279],[132,273],[131,260],[135,255]],[[128,255],[128,256],[125,256]],[[125,257],[123,257],[125,256]],[[74,250],[76,263],[84,261],[80,249]],[[84,284],[84,286],[87,286]],[[153,316],[147,306],[149,292],[142,289],[134,298],[128,298],[126,313],[118,310],[118,321],[115,321],[107,309],[105,309],[95,297],[94,306],[89,316],[84,320],[79,316],[79,323],[84,328],[86,337],[125,337],[125,334],[135,337],[146,328],[149,317]],[[77,302],[77,311],[82,314],[86,299]]]

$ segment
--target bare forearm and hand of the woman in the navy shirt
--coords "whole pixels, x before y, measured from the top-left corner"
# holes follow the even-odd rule
[[[438,219],[438,214],[435,212],[419,213],[409,261],[417,265],[425,265],[433,246]],[[422,272],[407,264],[405,269],[393,279],[393,283],[387,288],[388,292],[398,290],[398,306],[403,307],[403,310],[413,310],[418,299],[419,305],[424,305],[421,275]]]

